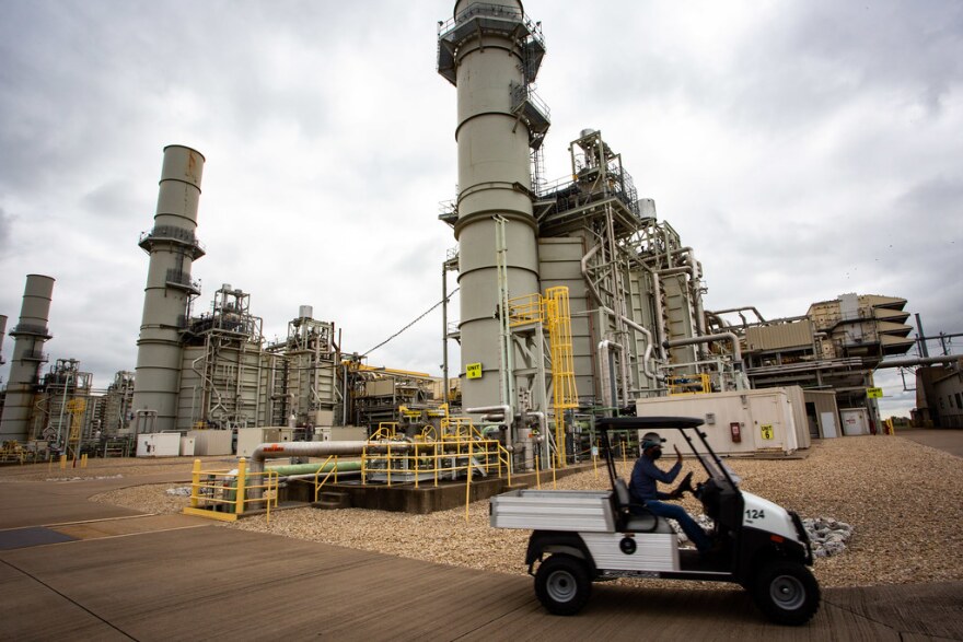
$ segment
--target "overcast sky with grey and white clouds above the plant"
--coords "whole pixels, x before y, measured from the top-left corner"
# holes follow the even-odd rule
[[[455,245],[437,220],[457,180],[455,90],[436,72],[452,5],[0,0],[8,331],[25,276],[48,275],[51,363],[79,359],[98,388],[134,370],[137,241],[171,143],[207,159],[195,313],[230,283],[266,337],[306,304],[366,352],[437,303]],[[569,174],[569,141],[600,129],[695,248],[707,310],[774,318],[885,294],[928,335],[963,331],[963,3],[525,10],[548,50],[546,177]],[[437,311],[369,362],[440,374],[440,336]],[[884,416],[914,406],[892,371],[878,383]]]

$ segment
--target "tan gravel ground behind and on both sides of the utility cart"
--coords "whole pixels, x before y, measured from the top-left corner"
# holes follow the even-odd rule
[[[904,439],[860,436],[819,442],[804,459],[727,462],[742,477],[744,490],[803,517],[852,525],[845,552],[816,560],[814,572],[824,586],[963,580],[963,459]],[[687,460],[683,472],[696,465]],[[628,472],[622,469],[623,477]],[[696,470],[695,479],[700,477]],[[92,499],[176,512],[186,500],[167,494],[173,487],[135,487]],[[558,482],[560,489],[606,487],[602,467]],[[694,499],[683,504],[689,513],[700,512]],[[467,518],[464,507],[430,515],[297,509],[271,513],[270,523],[262,515],[227,527],[504,573],[525,572],[529,536],[527,530],[488,526],[487,501],[471,504]]]

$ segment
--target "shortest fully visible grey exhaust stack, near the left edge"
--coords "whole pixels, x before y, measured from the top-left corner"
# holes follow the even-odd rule
[[[40,364],[47,361],[44,343],[50,339],[47,318],[53,294],[54,279],[43,275],[26,276],[20,320],[10,331],[14,341],[13,360],[7,382],[3,418],[0,420],[0,442],[24,442],[30,439],[34,386],[39,381]]]

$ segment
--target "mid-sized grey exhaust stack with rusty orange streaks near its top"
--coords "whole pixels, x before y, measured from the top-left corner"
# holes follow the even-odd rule
[[[195,236],[204,156],[187,147],[164,148],[154,226],[141,235],[150,255],[143,316],[137,341],[132,410],[156,413],[139,430],[174,430],[181,377],[181,330],[192,296],[200,294],[190,279],[192,264],[204,256]]]

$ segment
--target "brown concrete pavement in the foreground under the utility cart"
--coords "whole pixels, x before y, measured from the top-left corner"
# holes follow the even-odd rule
[[[963,582],[825,590],[820,612],[802,628],[770,625],[745,592],[727,586],[595,584],[580,615],[560,618],[542,609],[524,575],[143,516],[85,499],[184,477],[0,483],[0,541],[22,527],[63,538],[0,550],[0,638],[963,640]]]

